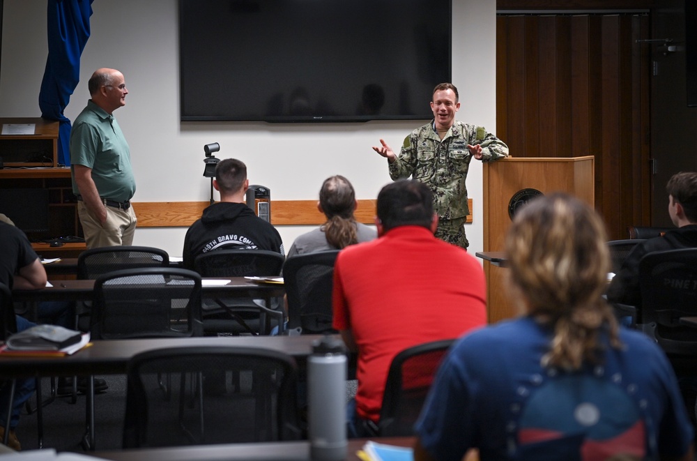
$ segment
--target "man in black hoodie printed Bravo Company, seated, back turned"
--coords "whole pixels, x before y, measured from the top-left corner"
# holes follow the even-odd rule
[[[217,164],[213,187],[220,192],[220,202],[208,206],[201,219],[186,232],[183,250],[186,269],[194,269],[198,255],[218,249],[252,248],[284,255],[283,242],[275,227],[247,206],[245,194],[249,186],[247,166],[240,160],[227,158]]]

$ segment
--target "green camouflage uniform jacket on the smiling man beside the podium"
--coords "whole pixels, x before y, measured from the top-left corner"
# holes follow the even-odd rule
[[[482,161],[508,156],[508,146],[482,126],[455,121],[441,140],[434,121],[404,138],[397,160],[390,163],[392,180],[407,178],[426,183],[434,194],[438,218],[449,220],[469,214],[465,179],[473,156],[467,144],[482,146]]]

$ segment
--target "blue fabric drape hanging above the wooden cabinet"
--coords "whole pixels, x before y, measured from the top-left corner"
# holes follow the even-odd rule
[[[48,0],[48,58],[39,108],[45,119],[61,122],[58,162],[70,165],[70,120],[63,115],[80,80],[80,56],[89,38],[93,0]]]

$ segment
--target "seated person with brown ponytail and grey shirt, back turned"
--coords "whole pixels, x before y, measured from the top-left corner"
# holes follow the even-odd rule
[[[356,222],[353,212],[358,206],[353,186],[344,176],[331,176],[319,190],[317,209],[327,217],[321,227],[298,236],[288,257],[316,251],[342,250],[354,243],[371,241],[378,236],[375,229]]]

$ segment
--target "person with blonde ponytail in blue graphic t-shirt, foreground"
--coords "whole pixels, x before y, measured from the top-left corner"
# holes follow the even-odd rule
[[[523,316],[461,338],[441,363],[415,460],[692,460],[664,353],[602,299],[602,220],[563,194],[516,213],[505,240]],[[621,457],[621,458],[620,458]]]

